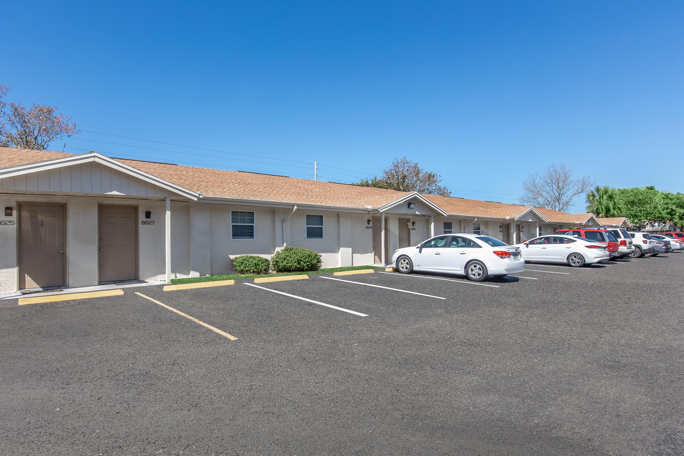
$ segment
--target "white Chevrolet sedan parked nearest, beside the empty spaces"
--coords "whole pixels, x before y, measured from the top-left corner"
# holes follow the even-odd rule
[[[487,276],[505,277],[525,270],[520,247],[479,234],[444,234],[416,247],[395,250],[392,265],[397,271],[449,272],[465,274],[482,282]]]

